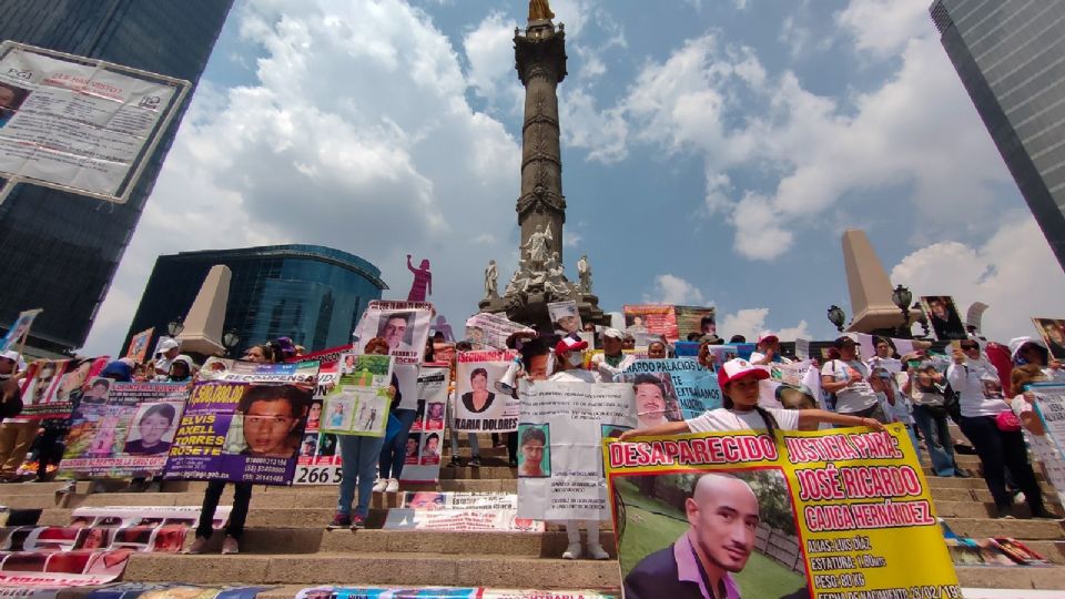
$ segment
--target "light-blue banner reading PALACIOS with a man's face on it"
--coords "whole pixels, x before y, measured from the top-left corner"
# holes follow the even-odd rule
[[[625,369],[622,380],[636,388],[638,428],[721,407],[718,376],[692,358],[640,359]]]

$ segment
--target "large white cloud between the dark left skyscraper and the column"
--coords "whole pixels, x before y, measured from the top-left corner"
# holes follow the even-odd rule
[[[519,145],[465,99],[490,69],[467,80],[448,39],[397,0],[250,2],[234,18],[264,53],[258,82],[201,87],[87,352],[118,347],[154,257],[185,250],[333,246],[381,266],[386,297],[409,286],[404,255],[427,256],[438,308],[475,311],[485,256],[508,276],[516,244],[500,197],[517,196]]]

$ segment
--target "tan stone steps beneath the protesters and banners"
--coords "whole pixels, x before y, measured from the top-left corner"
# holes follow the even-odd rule
[[[460,454],[469,456],[464,446]],[[439,485],[404,485],[404,490],[515,493],[517,480],[506,466],[506,450],[481,441],[481,468],[442,468]],[[445,464],[449,455],[445,454]],[[974,456],[958,456],[960,465],[978,471]],[[939,515],[960,536],[1016,538],[1054,562],[1053,567],[961,567],[963,587],[1065,589],[1065,535],[1051,520],[991,518],[994,504],[981,478],[927,477]],[[64,484],[0,485],[0,504],[44,508],[43,525],[64,525],[80,506],[200,505],[203,483],[166,483],[159,493],[89,493],[79,484],[74,493],[59,493]],[[1056,494],[1044,484],[1048,507]],[[567,561],[565,532],[548,527],[542,534],[412,532],[379,530],[392,494],[376,495],[368,529],[326,531],[333,516],[336,487],[256,487],[252,498],[242,552],[236,556],[138,554],[124,580],[199,583],[258,583],[280,588],[263,597],[292,598],[295,591],[317,585],[349,586],[485,586],[495,588],[601,589],[620,586],[617,561]],[[232,498],[232,487],[223,505]],[[1026,508],[1018,506],[1023,517]],[[212,539],[217,551],[221,535]],[[191,541],[191,539],[190,539]],[[604,545],[613,554],[613,537],[604,532]]]

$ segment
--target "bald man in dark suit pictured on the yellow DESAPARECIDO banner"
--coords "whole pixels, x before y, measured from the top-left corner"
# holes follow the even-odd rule
[[[671,546],[636,565],[625,577],[626,599],[739,599],[732,573],[754,549],[758,497],[729,474],[707,474],[684,501],[688,530]]]

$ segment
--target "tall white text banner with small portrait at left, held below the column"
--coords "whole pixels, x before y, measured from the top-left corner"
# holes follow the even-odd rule
[[[521,385],[518,516],[538,520],[609,517],[600,439],[636,426],[629,383]]]

